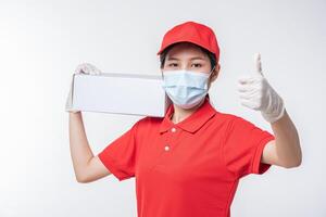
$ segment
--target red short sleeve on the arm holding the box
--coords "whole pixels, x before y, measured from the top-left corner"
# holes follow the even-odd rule
[[[138,122],[106,148],[98,157],[120,181],[135,177]]]

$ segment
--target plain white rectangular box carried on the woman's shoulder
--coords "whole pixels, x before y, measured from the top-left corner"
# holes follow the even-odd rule
[[[73,108],[163,117],[171,100],[161,86],[162,78],[159,75],[75,74]]]

